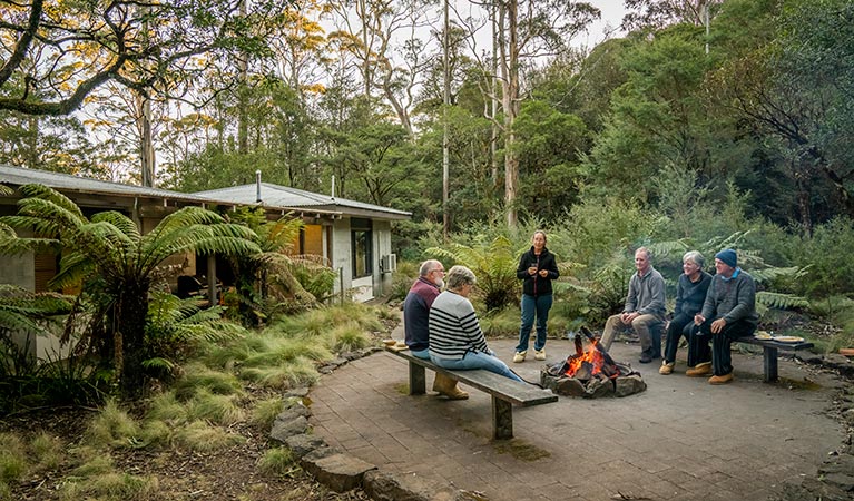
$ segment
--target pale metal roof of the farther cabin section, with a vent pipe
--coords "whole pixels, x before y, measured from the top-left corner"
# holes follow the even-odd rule
[[[218,200],[228,200],[235,204],[255,204],[257,200],[257,186],[254,184],[232,186],[228,188],[197,191],[194,195],[212,197]],[[347,215],[384,217],[390,219],[406,219],[412,217],[412,213],[405,210],[349,200],[346,198],[331,197],[269,183],[261,184],[261,199],[264,206],[272,207],[336,210]]]

